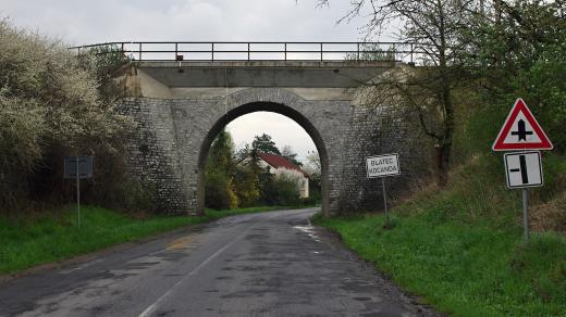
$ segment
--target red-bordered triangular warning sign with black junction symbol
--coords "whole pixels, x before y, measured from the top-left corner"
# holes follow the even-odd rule
[[[525,101],[519,98],[491,148],[493,151],[552,150],[553,145]]]

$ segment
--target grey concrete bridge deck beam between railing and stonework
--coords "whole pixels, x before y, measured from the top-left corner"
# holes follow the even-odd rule
[[[399,62],[214,61],[137,62],[135,65],[170,87],[353,88]]]

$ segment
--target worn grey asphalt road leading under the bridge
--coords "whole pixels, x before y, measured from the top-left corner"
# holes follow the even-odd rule
[[[421,316],[316,210],[249,214],[0,283],[1,316]]]

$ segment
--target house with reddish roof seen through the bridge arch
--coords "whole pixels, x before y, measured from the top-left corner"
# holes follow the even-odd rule
[[[258,153],[258,156],[261,167],[269,168],[275,177],[285,175],[296,179],[300,198],[308,198],[308,174],[283,156],[268,153]]]

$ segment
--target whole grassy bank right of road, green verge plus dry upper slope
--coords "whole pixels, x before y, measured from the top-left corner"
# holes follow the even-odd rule
[[[501,157],[476,157],[446,190],[427,189],[381,215],[316,217],[402,288],[455,316],[566,316],[566,239],[522,240],[520,191],[505,189]],[[532,204],[564,191],[564,160],[547,157],[546,188]],[[482,172],[483,170],[483,172]],[[487,172],[488,173],[487,173]],[[499,170],[500,174],[489,173]]]

